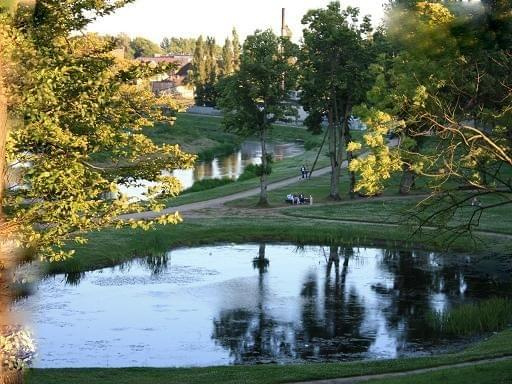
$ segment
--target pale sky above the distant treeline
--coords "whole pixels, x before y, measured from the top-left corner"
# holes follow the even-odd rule
[[[286,24],[293,40],[302,36],[300,20],[308,9],[323,8],[331,0],[136,0],[115,14],[98,19],[88,31],[116,35],[125,32],[132,38],[146,37],[160,43],[167,37],[214,36],[222,45],[236,27],[241,40],[256,29],[281,31],[281,8],[286,8]],[[382,19],[385,0],[342,0],[341,7],[359,7],[370,14],[374,25]]]

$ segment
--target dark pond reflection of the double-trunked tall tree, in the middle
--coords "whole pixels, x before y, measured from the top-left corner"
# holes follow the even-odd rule
[[[343,256],[341,272],[340,255]],[[351,256],[352,248],[330,247],[323,298],[317,275],[310,274],[303,285],[302,328],[296,331],[302,359],[342,359],[364,353],[371,343],[360,332],[364,305],[355,291],[347,291],[346,287]]]

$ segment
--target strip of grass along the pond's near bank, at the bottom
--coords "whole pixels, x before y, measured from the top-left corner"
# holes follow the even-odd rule
[[[29,384],[173,384],[173,383],[246,383],[272,384],[305,380],[320,380],[336,377],[360,376],[388,372],[402,372],[413,369],[436,367],[482,358],[499,357],[512,354],[512,330],[500,332],[488,340],[477,343],[460,353],[405,358],[395,360],[372,360],[352,363],[319,363],[300,365],[256,365],[226,366],[207,368],[121,368],[121,369],[34,369],[27,374]],[[473,368],[473,371],[471,370]],[[470,382],[481,383],[478,378],[494,378],[486,383],[508,383],[512,371],[512,362],[492,363],[479,367],[461,368],[421,375],[420,382],[425,383],[462,383],[462,378],[471,378]],[[499,370],[498,370],[499,369]],[[448,372],[448,374],[447,374]],[[450,373],[454,372],[452,376]],[[471,376],[473,372],[476,376]],[[485,374],[484,374],[485,373]],[[441,375],[441,376],[439,376]],[[437,381],[438,377],[445,380]],[[416,383],[417,376],[404,378],[397,383]],[[427,381],[431,378],[431,381]],[[487,379],[486,379],[487,380]],[[388,381],[385,381],[386,383]],[[394,383],[395,381],[389,381]]]

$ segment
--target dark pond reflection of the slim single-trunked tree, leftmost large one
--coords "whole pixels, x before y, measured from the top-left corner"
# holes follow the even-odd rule
[[[258,257],[253,259],[253,267],[259,271],[256,309],[222,311],[219,319],[213,321],[212,338],[230,350],[235,364],[283,361],[292,357],[293,343],[289,340],[292,324],[276,321],[265,312],[268,266],[265,244],[261,244]]]

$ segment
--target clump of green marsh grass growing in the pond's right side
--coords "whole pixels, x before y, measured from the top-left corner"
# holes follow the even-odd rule
[[[480,303],[462,304],[447,312],[427,315],[427,323],[443,335],[468,336],[500,331],[512,322],[512,300],[492,298]]]

